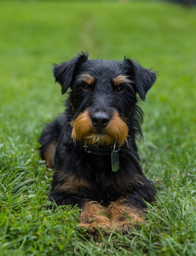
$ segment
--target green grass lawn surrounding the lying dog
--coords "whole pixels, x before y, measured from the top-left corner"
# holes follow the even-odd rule
[[[196,255],[196,9],[160,1],[1,1],[0,255]],[[63,111],[52,63],[137,58],[159,76],[142,108],[146,224],[92,241],[78,209],[51,209],[36,141]]]

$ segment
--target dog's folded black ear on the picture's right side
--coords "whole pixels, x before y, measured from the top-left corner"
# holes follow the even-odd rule
[[[152,87],[156,80],[155,73],[150,69],[143,68],[128,58],[124,58],[123,62],[128,64],[129,75],[131,78],[134,78],[136,92],[139,94],[139,97],[145,101],[147,91]]]

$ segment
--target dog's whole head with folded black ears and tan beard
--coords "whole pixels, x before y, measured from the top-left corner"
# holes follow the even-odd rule
[[[145,100],[156,79],[150,70],[129,59],[88,60],[85,54],[55,65],[53,73],[62,94],[71,87],[73,140],[95,145],[123,145],[136,93]]]

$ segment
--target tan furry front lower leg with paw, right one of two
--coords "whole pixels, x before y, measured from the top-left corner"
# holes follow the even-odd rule
[[[108,210],[113,224],[112,227],[115,227],[117,231],[121,230],[123,235],[127,235],[133,230],[132,225],[137,227],[138,222],[144,223],[141,209],[132,206],[128,199],[121,198],[115,202],[111,202]],[[125,213],[129,216],[132,224]]]

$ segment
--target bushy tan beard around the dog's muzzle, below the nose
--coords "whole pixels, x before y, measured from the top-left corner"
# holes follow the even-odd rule
[[[71,122],[71,137],[76,143],[77,140],[84,141],[94,145],[113,145],[116,143],[122,146],[128,136],[128,127],[114,112],[109,124],[100,130],[97,130],[91,122],[89,112],[85,110]]]

